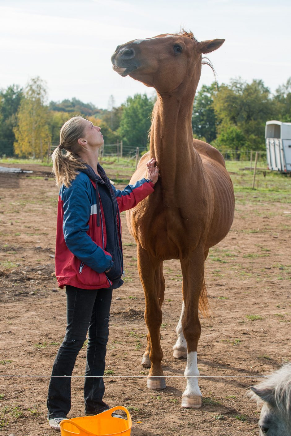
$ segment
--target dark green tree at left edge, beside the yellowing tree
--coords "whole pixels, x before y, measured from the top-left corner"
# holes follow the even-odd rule
[[[17,125],[17,110],[22,96],[22,89],[18,85],[0,91],[0,154],[13,155],[13,129]]]

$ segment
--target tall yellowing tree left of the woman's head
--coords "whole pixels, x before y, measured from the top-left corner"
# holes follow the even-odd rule
[[[45,83],[39,77],[32,78],[21,99],[14,128],[14,151],[21,157],[42,159],[51,143],[46,96]]]

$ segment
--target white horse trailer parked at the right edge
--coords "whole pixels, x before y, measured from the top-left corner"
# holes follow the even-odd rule
[[[265,140],[269,170],[291,172],[291,123],[267,121]]]

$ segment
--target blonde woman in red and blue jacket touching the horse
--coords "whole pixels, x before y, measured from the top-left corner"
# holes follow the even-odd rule
[[[147,163],[147,179],[116,190],[98,163],[103,143],[100,127],[75,116],[62,126],[60,144],[52,154],[55,179],[61,187],[55,273],[59,287],[66,286],[67,295],[66,334],[48,388],[48,422],[56,430],[71,408],[71,377],[58,376],[72,375],[87,331],[85,415],[109,408],[103,402],[102,376],[112,290],[123,284],[120,212],[151,194],[159,175],[153,158]]]

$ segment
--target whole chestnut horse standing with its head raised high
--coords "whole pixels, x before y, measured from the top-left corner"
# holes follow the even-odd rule
[[[200,308],[207,307],[204,262],[210,247],[229,232],[233,222],[233,185],[222,155],[211,145],[193,140],[192,109],[201,75],[202,53],[219,48],[224,39],[198,42],[192,33],[136,39],[116,48],[113,70],[157,91],[151,124],[150,151],[140,159],[130,183],[145,177],[149,157],[160,169],[154,193],[127,213],[137,242],[137,265],[144,287],[148,328],[142,364],[151,367],[147,387],[164,389],[160,344],[164,300],[163,261],[179,259],[183,305],[176,329],[174,357],[187,357],[187,386],[182,406],[198,408],[197,345]]]

